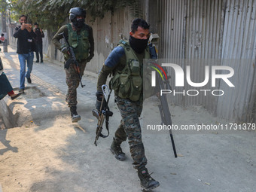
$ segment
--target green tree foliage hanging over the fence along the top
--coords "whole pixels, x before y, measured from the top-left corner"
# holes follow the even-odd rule
[[[3,0],[0,0],[2,2]],[[69,10],[81,7],[87,10],[92,20],[103,18],[108,11],[114,14],[119,8],[129,6],[134,15],[139,15],[139,0],[11,0],[12,18],[19,20],[26,14],[32,23],[38,22],[42,29],[56,32],[69,18]]]

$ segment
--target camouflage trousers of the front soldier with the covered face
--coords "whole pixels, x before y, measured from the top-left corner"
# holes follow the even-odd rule
[[[142,143],[142,129],[139,123],[139,116],[142,113],[142,102],[133,102],[130,99],[116,97],[117,106],[120,110],[122,120],[114,134],[118,144],[126,141],[130,145],[130,153],[133,157],[133,166],[138,169],[147,164],[145,149]]]

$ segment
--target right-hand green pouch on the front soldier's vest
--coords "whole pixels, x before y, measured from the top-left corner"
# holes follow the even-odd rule
[[[136,102],[139,101],[142,94],[142,78],[140,76],[133,76],[131,93],[129,99]]]

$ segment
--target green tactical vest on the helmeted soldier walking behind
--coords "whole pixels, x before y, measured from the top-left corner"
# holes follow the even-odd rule
[[[90,43],[87,26],[84,25],[80,35],[72,29],[70,23],[67,24],[69,32],[69,44],[74,48],[75,58],[79,61],[87,59],[89,55]]]

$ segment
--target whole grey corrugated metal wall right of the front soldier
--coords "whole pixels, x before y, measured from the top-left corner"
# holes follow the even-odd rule
[[[251,106],[256,95],[255,3],[254,0],[158,0],[161,58],[176,61],[183,68],[189,65],[193,82],[204,80],[206,65],[230,66],[235,71],[230,78],[235,88],[227,87],[224,81],[218,81],[215,87],[225,90],[224,96],[175,96],[172,102],[184,106],[204,105],[228,119],[249,118],[246,116],[248,110],[254,110]],[[175,77],[173,72],[171,74]],[[212,90],[210,84],[203,88]],[[184,87],[184,90],[190,89],[197,90]]]

